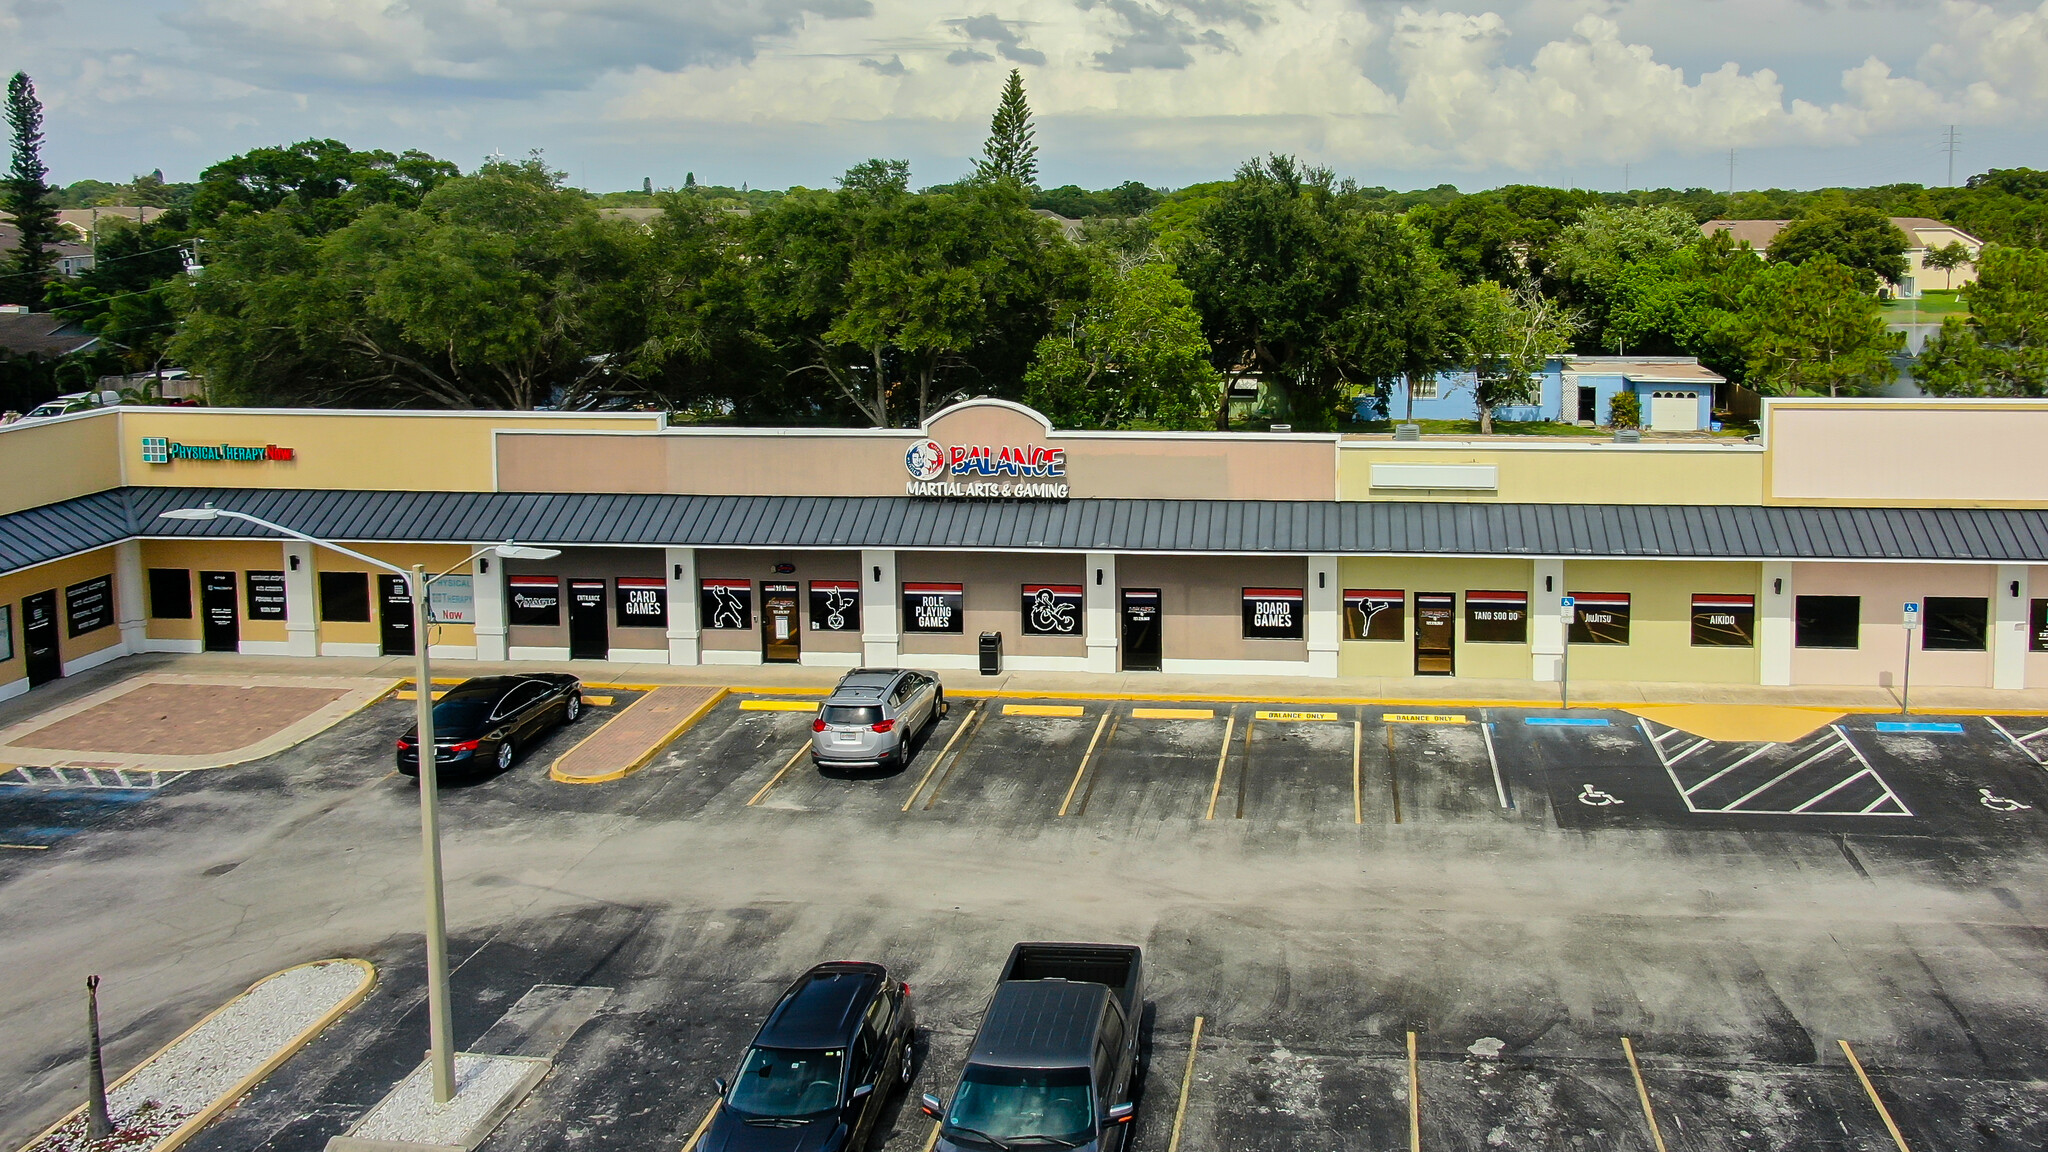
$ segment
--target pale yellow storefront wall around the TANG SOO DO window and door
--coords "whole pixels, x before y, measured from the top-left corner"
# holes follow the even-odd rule
[[[1415,592],[1452,592],[1458,596],[1458,640],[1452,660],[1458,676],[1487,681],[1526,681],[1530,676],[1528,644],[1468,644],[1464,640],[1464,594],[1470,590],[1530,590],[1536,574],[1528,560],[1436,560],[1370,556],[1337,562],[1346,588],[1401,588],[1407,592],[1401,640],[1346,640],[1337,648],[1339,676],[1413,676],[1415,674]]]

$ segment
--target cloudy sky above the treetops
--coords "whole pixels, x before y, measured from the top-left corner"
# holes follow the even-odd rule
[[[2048,166],[2048,2],[0,0],[59,182],[309,135],[592,189],[969,168],[1010,68],[1040,182],[1294,152],[1364,184],[1958,180]]]

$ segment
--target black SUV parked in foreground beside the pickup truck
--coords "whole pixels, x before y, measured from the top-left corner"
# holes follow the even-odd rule
[[[909,1086],[915,1027],[909,984],[887,968],[838,961],[805,972],[768,1013],[733,1080],[719,1080],[719,1111],[698,1152],[864,1148],[883,1103]]]

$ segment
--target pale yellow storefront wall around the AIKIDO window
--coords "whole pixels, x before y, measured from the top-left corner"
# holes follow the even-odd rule
[[[1573,644],[1573,681],[1757,683],[1757,648],[1694,648],[1694,592],[1757,594],[1759,564],[1567,560],[1567,592],[1628,592],[1628,644]]]

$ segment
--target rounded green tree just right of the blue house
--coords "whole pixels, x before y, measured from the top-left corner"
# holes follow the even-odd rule
[[[1898,369],[1903,336],[1884,328],[1858,273],[1817,256],[1772,264],[1743,289],[1747,383],[1776,396],[1868,396]]]

